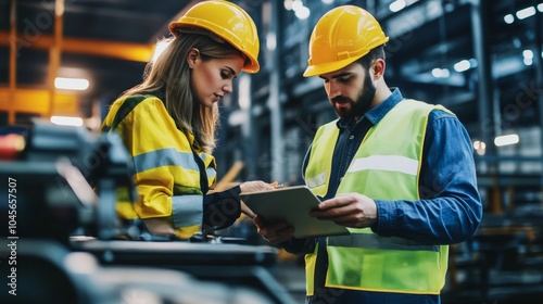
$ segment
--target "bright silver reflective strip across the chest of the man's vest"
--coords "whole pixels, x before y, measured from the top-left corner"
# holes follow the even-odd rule
[[[417,175],[418,161],[400,155],[372,155],[364,159],[356,159],[349,168],[349,172],[368,169]]]

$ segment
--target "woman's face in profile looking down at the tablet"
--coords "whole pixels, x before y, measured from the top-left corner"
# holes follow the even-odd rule
[[[192,89],[202,106],[211,107],[225,94],[232,92],[232,81],[244,64],[241,55],[203,61],[200,51],[192,49],[187,58],[192,73]]]

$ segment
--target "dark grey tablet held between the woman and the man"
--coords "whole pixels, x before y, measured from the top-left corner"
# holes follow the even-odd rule
[[[306,186],[241,193],[240,197],[254,214],[262,215],[266,220],[285,220],[292,225],[295,238],[351,233],[344,226],[310,216],[310,211],[319,204],[319,200]]]

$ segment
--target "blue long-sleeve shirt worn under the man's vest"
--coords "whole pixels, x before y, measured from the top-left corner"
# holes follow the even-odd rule
[[[336,195],[341,177],[369,128],[379,123],[402,99],[400,90],[394,89],[387,100],[369,110],[354,125],[343,119],[338,122],[340,135],[333,151],[328,193],[324,199]],[[303,172],[310,152],[311,149],[304,160]],[[430,244],[458,243],[475,233],[481,221],[482,204],[477,189],[471,141],[458,118],[447,112],[432,111],[428,117],[419,193],[420,200],[417,201],[375,200],[378,219],[371,230],[380,236],[403,237]],[[317,239],[293,239],[282,245],[292,253],[308,253],[315,243]],[[319,243],[324,246],[324,242]],[[316,287],[324,286],[326,259],[323,255],[317,259]],[[392,299],[389,294],[386,296],[387,301],[379,292],[349,291],[341,294],[346,297],[336,303],[350,303],[353,300],[368,299],[367,296],[380,303],[389,303],[388,300],[390,303],[406,303],[405,301],[413,300],[408,294],[395,294]],[[427,300],[439,303],[439,296],[429,296]]]

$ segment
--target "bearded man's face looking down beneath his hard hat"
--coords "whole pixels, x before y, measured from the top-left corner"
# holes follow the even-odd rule
[[[333,110],[341,118],[362,117],[370,107],[376,87],[368,69],[352,63],[341,69],[319,75]]]

